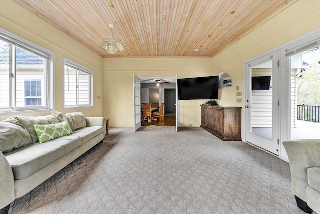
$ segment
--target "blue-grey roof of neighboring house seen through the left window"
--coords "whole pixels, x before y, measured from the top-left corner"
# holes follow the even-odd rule
[[[9,50],[0,53],[0,64],[9,64]],[[21,48],[16,48],[16,65],[43,65],[43,58]]]

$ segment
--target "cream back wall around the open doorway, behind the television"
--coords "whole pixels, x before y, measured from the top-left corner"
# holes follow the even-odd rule
[[[177,74],[179,78],[218,75],[211,72],[211,58],[105,58],[103,115],[110,118],[110,126],[133,127],[133,74],[138,77]],[[200,126],[200,106],[190,101],[179,104],[180,126]]]

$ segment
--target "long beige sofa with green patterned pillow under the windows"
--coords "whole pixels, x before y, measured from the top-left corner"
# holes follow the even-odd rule
[[[101,142],[106,134],[104,117],[51,113],[0,121],[1,210]]]

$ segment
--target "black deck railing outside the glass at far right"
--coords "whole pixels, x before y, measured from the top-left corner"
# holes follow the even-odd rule
[[[296,119],[312,122],[320,122],[320,106],[297,105]]]

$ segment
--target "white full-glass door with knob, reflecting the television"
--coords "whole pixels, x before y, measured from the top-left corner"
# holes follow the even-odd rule
[[[279,54],[245,64],[245,141],[278,155]]]

